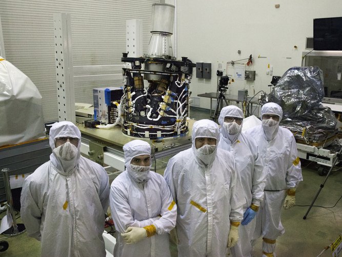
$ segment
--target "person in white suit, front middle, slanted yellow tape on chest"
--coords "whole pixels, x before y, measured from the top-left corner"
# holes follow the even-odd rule
[[[177,203],[171,237],[178,256],[225,256],[238,240],[243,195],[233,156],[217,149],[218,125],[199,120],[192,128],[192,148],[172,157],[164,177]]]

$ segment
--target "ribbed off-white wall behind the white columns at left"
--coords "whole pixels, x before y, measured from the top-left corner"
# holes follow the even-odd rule
[[[150,40],[152,4],[158,0],[1,0],[6,59],[24,72],[43,97],[45,121],[58,119],[53,14],[71,14],[74,65],[123,64],[126,20],[143,20],[143,49]],[[1,36],[1,35],[0,35]],[[75,102],[93,103],[92,88],[118,81],[75,83]]]

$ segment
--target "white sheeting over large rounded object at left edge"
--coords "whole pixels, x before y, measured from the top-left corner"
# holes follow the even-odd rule
[[[41,94],[22,71],[0,57],[0,147],[44,137]]]

